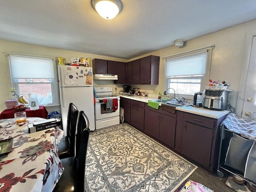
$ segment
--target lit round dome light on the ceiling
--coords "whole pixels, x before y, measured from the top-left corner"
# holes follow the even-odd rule
[[[122,10],[120,0],[92,0],[92,6],[104,19],[112,19]]]

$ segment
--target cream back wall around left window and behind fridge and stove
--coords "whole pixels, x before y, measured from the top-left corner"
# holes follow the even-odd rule
[[[3,51],[22,53],[22,54],[40,55],[40,56],[49,56],[49,57],[63,57],[63,58],[66,58],[67,62],[69,63],[71,61],[71,57],[85,57],[85,58],[90,58],[90,67],[92,67],[92,60],[94,58],[127,62],[127,60],[124,60],[124,59],[111,58],[111,57],[99,56],[95,54],[74,52],[74,51],[61,50],[56,48],[49,48],[49,47],[36,46],[31,44],[0,40],[0,112],[6,109],[6,106],[4,103],[5,100],[13,98],[12,94],[9,92],[11,87],[8,87],[8,83],[10,84],[10,81],[11,81],[10,68],[6,66],[6,59],[8,58],[5,58]],[[104,85],[112,86],[113,90],[115,90],[115,88],[119,86],[119,85],[117,86],[114,85],[113,80],[106,80],[106,81],[103,81],[102,83],[104,83]],[[94,82],[94,85],[97,86],[96,81]],[[121,90],[122,85],[120,85],[119,87],[120,88],[118,89]],[[48,110],[48,112],[52,112],[54,110],[60,111],[59,106],[46,107],[46,109]]]

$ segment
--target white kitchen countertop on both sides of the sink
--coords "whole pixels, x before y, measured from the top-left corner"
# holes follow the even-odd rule
[[[128,99],[132,99],[132,100],[145,102],[145,103],[147,103],[149,100],[157,99],[155,97],[150,97],[150,96],[136,96],[136,95],[126,96],[126,95],[121,95],[121,94],[115,94],[115,95],[123,97],[123,98],[128,98]],[[159,106],[161,106],[161,104],[159,104]],[[176,110],[188,112],[188,113],[192,113],[192,114],[197,114],[197,115],[201,115],[201,116],[205,116],[205,117],[210,117],[210,118],[214,118],[214,119],[218,119],[218,118],[230,113],[230,111],[228,111],[228,110],[216,111],[216,110],[206,109],[203,107],[193,107],[193,106],[176,107]]]

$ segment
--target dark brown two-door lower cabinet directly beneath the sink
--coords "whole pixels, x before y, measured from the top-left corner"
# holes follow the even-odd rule
[[[168,113],[168,112],[166,112]],[[146,107],[144,132],[174,148],[176,118]]]

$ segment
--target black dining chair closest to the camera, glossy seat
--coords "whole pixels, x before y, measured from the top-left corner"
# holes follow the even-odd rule
[[[84,192],[84,172],[89,138],[89,121],[83,111],[79,112],[76,137],[76,156],[60,161],[64,171],[53,192]]]

